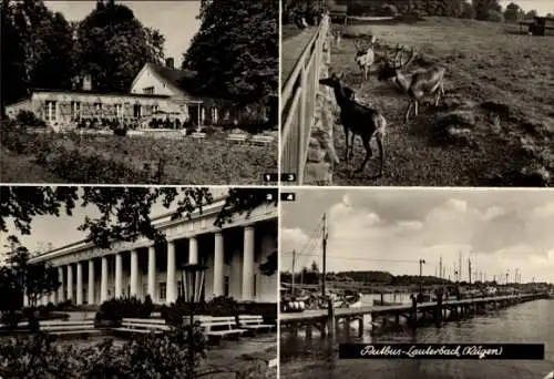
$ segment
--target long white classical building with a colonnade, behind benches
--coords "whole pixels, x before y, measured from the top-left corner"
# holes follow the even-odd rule
[[[182,266],[199,263],[207,267],[203,297],[230,296],[238,301],[277,303],[277,273],[259,270],[268,255],[277,250],[277,207],[264,205],[235,215],[223,227],[214,226],[225,198],[214,199],[192,218],[172,221],[172,214],[153,219],[167,243],[155,245],[147,238],[116,242],[110,249],[81,240],[30,260],[50,262],[62,283],[57,294],[41,299],[75,305],[100,305],[116,297],[150,295],[154,303],[175,301],[182,290]]]

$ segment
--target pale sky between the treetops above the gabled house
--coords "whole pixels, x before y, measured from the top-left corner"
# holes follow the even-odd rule
[[[69,21],[82,21],[96,7],[94,0],[44,2],[49,9],[61,12]],[[129,7],[143,25],[160,30],[165,37],[165,57],[173,58],[175,66],[181,68],[183,53],[201,28],[201,21],[196,19],[201,2],[197,0],[135,0],[116,1],[116,3]]]

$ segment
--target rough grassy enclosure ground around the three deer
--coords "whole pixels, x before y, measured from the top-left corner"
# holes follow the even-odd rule
[[[408,98],[391,83],[379,82],[376,69],[361,84],[355,47],[345,39],[331,65],[345,72],[357,99],[380,109],[388,121],[386,172],[372,177],[378,158],[363,174],[352,171],[365,151],[356,142],[352,162],[335,168],[336,185],[540,186],[552,185],[554,173],[554,38],[516,33],[517,27],[473,20],[430,18],[416,24],[357,24],[347,33],[376,34],[388,45],[402,43],[419,51],[407,71],[444,64],[445,100],[439,109],[420,106],[408,124]],[[378,51],[379,53],[379,51]],[[464,113],[454,121],[463,137],[439,126],[439,113]],[[463,120],[462,120],[463,121]],[[463,126],[463,127],[462,127]],[[450,130],[452,131],[452,130]],[[345,135],[336,125],[335,145],[345,153]],[[373,148],[377,155],[377,150]],[[550,174],[550,175],[548,175]]]

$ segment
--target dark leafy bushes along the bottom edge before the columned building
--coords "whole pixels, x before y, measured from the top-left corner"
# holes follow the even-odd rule
[[[90,348],[58,346],[45,334],[11,339],[0,346],[3,378],[187,378],[189,351],[198,363],[206,339],[199,328],[177,328],[138,336],[117,348],[106,339]]]

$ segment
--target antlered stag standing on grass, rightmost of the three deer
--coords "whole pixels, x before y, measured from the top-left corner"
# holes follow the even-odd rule
[[[409,65],[416,58],[417,51],[412,48],[410,58],[406,63],[397,64],[397,59],[407,49],[397,45],[394,61],[390,62],[388,54],[384,58],[384,63],[379,71],[379,81],[393,79],[394,83],[409,96],[409,104],[404,115],[404,123],[410,119],[410,112],[414,109],[414,115],[419,114],[419,102],[425,95],[434,94],[434,106],[439,106],[439,100],[444,96],[444,75],[447,69],[440,64],[432,65],[429,69],[421,69],[411,74],[402,73],[400,70]]]

